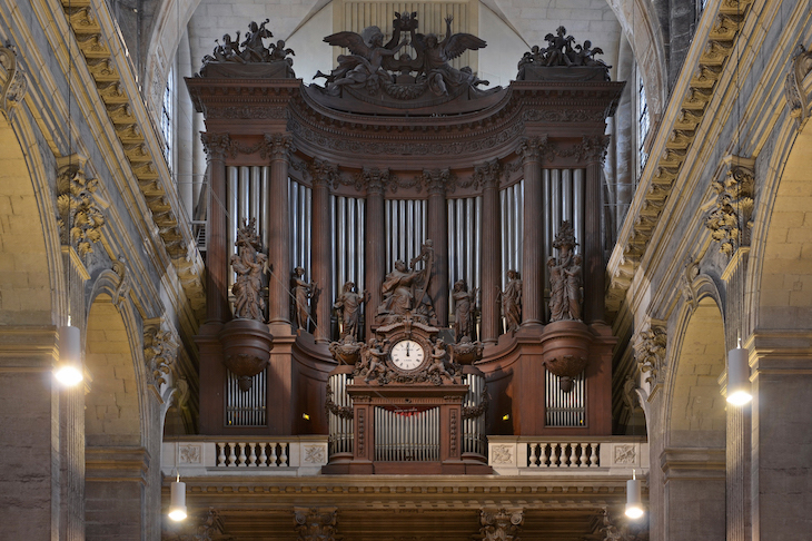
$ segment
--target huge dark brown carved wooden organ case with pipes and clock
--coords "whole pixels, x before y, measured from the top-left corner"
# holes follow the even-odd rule
[[[397,52],[367,38],[351,56]],[[424,42],[422,65],[384,51],[307,86],[259,45],[187,79],[208,158],[201,433],[329,434],[333,473],[484,473],[487,434],[610,435],[602,169],[623,83],[527,53],[479,90]]]

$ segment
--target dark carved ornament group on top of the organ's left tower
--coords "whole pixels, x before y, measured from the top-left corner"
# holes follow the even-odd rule
[[[217,63],[231,63],[231,65],[246,65],[246,63],[268,63],[276,65],[276,69],[271,69],[268,75],[275,77],[295,79],[294,73],[294,59],[289,58],[288,55],[294,56],[294,50],[285,47],[285,40],[278,40],[276,43],[270,43],[266,47],[265,40],[274,37],[270,30],[265,26],[270,19],[265,19],[261,23],[257,24],[251,21],[248,24],[248,31],[245,33],[242,42],[239,41],[239,31],[232,39],[231,35],[226,33],[222,36],[222,42],[216,40],[217,46],[211,55],[206,55],[202,60],[202,68],[200,68],[200,76],[206,77],[212,65]],[[222,71],[222,70],[216,70]],[[228,72],[228,71],[227,71]]]

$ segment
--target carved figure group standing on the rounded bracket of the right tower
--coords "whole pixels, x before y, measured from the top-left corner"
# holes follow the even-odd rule
[[[575,254],[575,233],[570,222],[564,222],[553,246],[558,259],[547,259],[549,267],[549,321],[581,319],[581,256]]]

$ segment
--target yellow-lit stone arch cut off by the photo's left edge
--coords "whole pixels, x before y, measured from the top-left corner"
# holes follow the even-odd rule
[[[50,325],[59,292],[52,283],[60,274],[52,272],[60,268],[58,235],[49,232],[55,219],[42,212],[51,200],[41,200],[50,190],[42,189],[48,183],[31,163],[39,153],[23,153],[30,134],[16,127],[0,115],[0,324]]]

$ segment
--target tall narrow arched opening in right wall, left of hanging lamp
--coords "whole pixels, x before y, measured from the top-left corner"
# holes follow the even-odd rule
[[[726,413],[719,377],[725,340],[711,297],[700,301],[675,351],[661,459],[664,539],[724,539]]]

